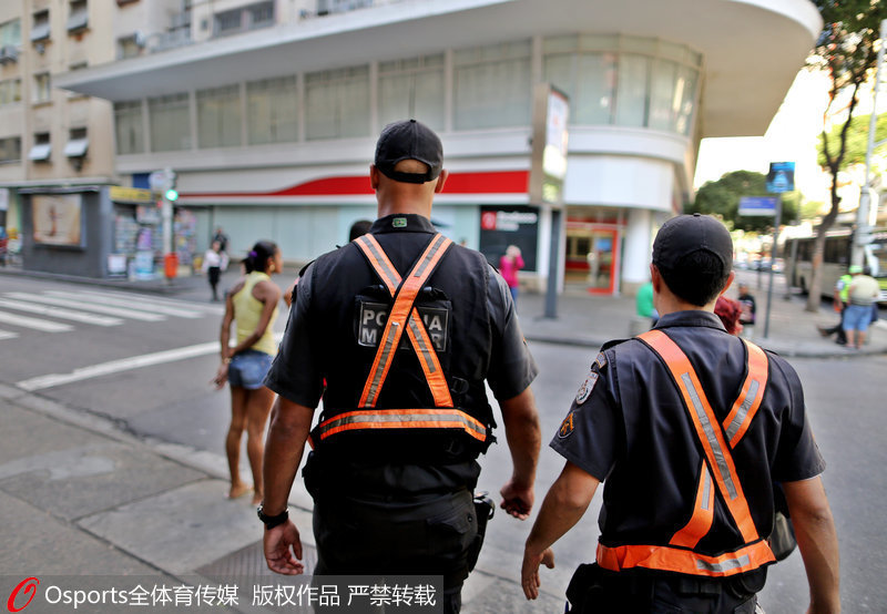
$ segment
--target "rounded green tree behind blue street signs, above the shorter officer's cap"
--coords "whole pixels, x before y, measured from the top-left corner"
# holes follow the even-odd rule
[[[725,173],[720,180],[706,182],[696,192],[696,199],[686,205],[687,213],[716,215],[731,229],[746,232],[769,232],[773,218],[764,216],[740,215],[740,198],[743,196],[768,196],[767,177],[753,171],[733,171]],[[789,192],[783,195],[783,223],[797,217],[801,195]]]

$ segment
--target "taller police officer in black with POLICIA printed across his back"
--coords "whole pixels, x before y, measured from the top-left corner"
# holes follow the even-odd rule
[[[541,436],[530,389],[538,369],[507,284],[430,222],[446,178],[431,130],[415,120],[386,126],[370,166],[378,219],[303,272],[266,379],[279,397],[259,518],[268,566],[302,573],[286,502],[309,440],[315,573],[442,575],[445,610],[458,612],[481,539],[476,459],[495,439],[485,380],[513,461],[501,506],[521,520]]]

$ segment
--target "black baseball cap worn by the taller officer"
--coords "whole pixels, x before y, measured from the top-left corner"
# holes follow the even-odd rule
[[[428,166],[427,173],[395,171],[398,162],[418,160]],[[436,180],[443,167],[443,145],[435,132],[416,120],[388,124],[376,143],[376,168],[389,180],[426,183]]]

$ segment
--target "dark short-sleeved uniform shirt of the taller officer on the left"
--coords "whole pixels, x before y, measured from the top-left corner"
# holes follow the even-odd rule
[[[377,219],[369,233],[381,245],[395,268],[401,275],[406,275],[437,231],[424,216],[395,214]],[[354,252],[348,253],[348,250]],[[453,254],[455,250],[465,252]],[[465,259],[476,255],[473,250],[452,245],[450,253],[443,257],[441,268],[445,267],[447,258],[458,256]],[[343,263],[350,263],[348,272],[343,273]],[[479,381],[481,386],[486,379],[497,399],[510,399],[521,393],[532,382],[538,368],[520,330],[508,285],[489,264],[483,263],[483,267],[489,274],[483,293],[486,305],[482,308],[468,304],[460,296],[448,297],[451,303],[452,320],[456,323],[477,317],[466,315],[466,311],[488,313],[488,320],[479,324],[485,334],[477,336],[477,341],[468,341],[476,344],[475,346],[455,347],[450,341],[449,372],[463,372],[465,365],[471,362],[475,372],[466,375],[467,379]],[[343,275],[347,275],[348,279],[343,279]],[[441,285],[440,275],[441,269],[435,272],[427,285]],[[359,348],[355,339],[358,332],[354,330],[355,311],[359,309],[359,305],[355,305],[355,296],[366,289],[361,288],[364,284],[379,285],[380,282],[359,254],[358,247],[353,244],[325,254],[307,267],[296,286],[286,332],[265,380],[268,388],[290,401],[309,408],[317,407],[322,396],[325,406],[338,409],[347,408],[349,402],[355,402],[345,398],[349,391],[337,389],[336,381],[348,375],[347,371],[366,373],[367,355],[355,358],[355,350]],[[317,295],[322,294],[325,298],[318,299]],[[323,327],[318,324],[322,320],[336,323],[337,330],[320,330]],[[477,325],[476,320],[471,321]],[[489,339],[488,347],[482,347],[483,338]],[[398,351],[394,360],[379,397],[379,408],[386,407],[386,395],[394,393],[391,389],[398,381],[402,381],[397,379],[392,381],[390,373],[398,366],[398,361],[404,360],[404,354],[406,352]],[[409,354],[414,352],[410,350]],[[447,371],[447,368],[443,370]],[[427,397],[429,392],[424,376],[421,372],[417,376],[418,379],[412,385],[401,388],[408,388],[406,392],[410,395],[425,396],[425,407],[434,407],[434,403],[428,405],[430,398]],[[325,380],[329,386],[327,390],[324,390]],[[487,402],[486,395],[482,402]],[[350,482],[366,485],[367,489],[378,487],[394,490],[435,490],[465,485],[473,488],[479,474],[479,467],[475,461],[448,468],[389,464],[353,469],[351,475],[348,477]]]

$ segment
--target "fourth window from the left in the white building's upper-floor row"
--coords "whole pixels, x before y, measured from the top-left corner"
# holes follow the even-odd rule
[[[298,140],[296,78],[246,84],[246,134],[251,145]]]

